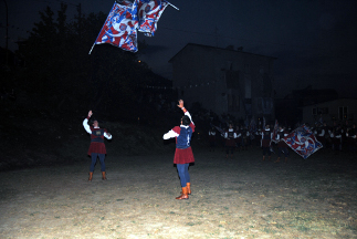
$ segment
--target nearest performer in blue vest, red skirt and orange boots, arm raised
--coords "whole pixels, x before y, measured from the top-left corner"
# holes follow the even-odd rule
[[[182,187],[181,196],[176,199],[189,199],[191,195],[191,180],[188,173],[190,163],[195,163],[195,157],[191,148],[191,136],[195,132],[195,124],[192,122],[190,113],[183,107],[183,101],[180,100],[177,105],[185,113],[181,117],[180,126],[175,126],[168,133],[164,135],[164,139],[176,138],[176,150],[174,157],[174,164],[177,166],[177,170],[180,177]]]

